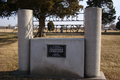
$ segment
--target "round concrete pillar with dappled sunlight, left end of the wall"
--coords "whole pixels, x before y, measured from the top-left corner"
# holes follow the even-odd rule
[[[18,10],[18,60],[19,72],[30,71],[30,39],[33,37],[33,11]]]

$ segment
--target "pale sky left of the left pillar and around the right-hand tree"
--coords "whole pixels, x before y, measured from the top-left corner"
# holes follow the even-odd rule
[[[87,5],[86,1],[87,0],[83,0],[80,2],[80,4],[84,6],[84,8]],[[113,0],[113,3],[116,10],[116,20],[115,20],[115,23],[116,23],[118,21],[117,20],[118,16],[120,16],[120,2],[118,0]],[[0,26],[8,26],[9,24],[11,26],[15,26],[17,25],[17,22],[18,22],[17,16],[12,16],[9,18],[0,18]]]

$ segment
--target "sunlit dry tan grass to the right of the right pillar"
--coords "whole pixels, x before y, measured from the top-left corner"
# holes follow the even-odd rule
[[[107,80],[120,80],[120,35],[102,35],[101,71]]]

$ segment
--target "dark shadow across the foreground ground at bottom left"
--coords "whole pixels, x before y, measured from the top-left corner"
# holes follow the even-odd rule
[[[52,78],[31,75],[14,75],[13,72],[14,71],[0,71],[0,80],[68,80],[65,78]]]

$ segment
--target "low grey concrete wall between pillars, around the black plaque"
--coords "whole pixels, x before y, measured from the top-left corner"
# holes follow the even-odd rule
[[[47,57],[47,45],[66,45],[66,57]],[[31,39],[30,74],[84,78],[84,39]]]

